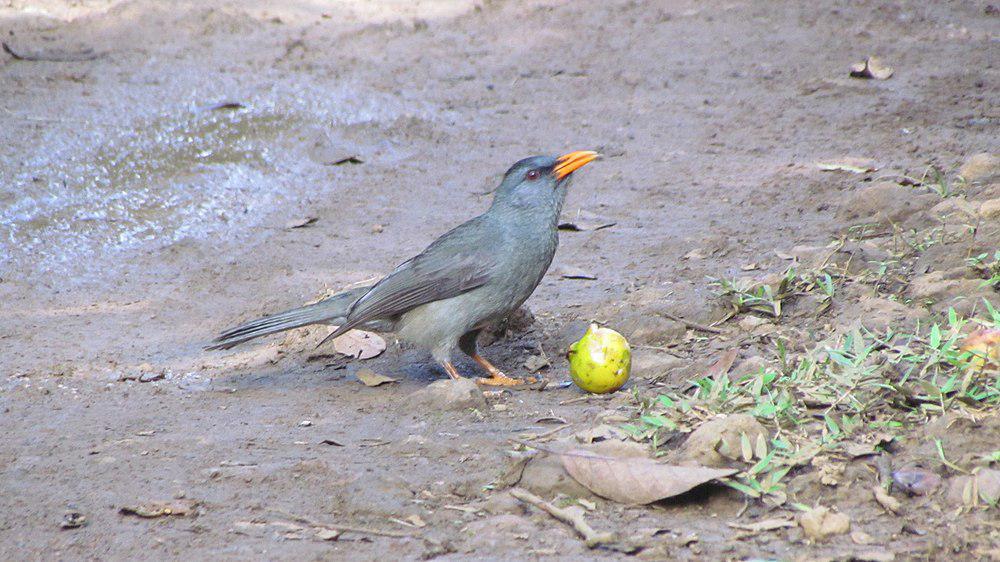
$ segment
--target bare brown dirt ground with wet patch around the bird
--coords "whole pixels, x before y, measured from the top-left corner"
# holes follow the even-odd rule
[[[839,485],[793,473],[789,503],[850,516],[854,534],[827,540],[733,527],[791,511],[723,486],[652,506],[592,498],[595,528],[638,537],[629,553],[588,549],[501,478],[511,439],[632,420],[644,396],[683,391],[731,349],[734,373],[771,361],[757,316],[721,333],[676,318],[719,321],[728,304],[710,279],[781,274],[794,248],[825,247],[862,215],[955,237],[907,254],[881,293],[845,283],[822,318],[775,322],[797,349],[862,321],[941,318],[941,303],[970,316],[1000,304],[978,280],[925,279],[997,248],[983,202],[1000,177],[962,183],[962,201],[984,205],[973,238],[935,222],[941,199],[919,185],[858,196],[998,152],[995,3],[270,4],[0,3],[16,54],[0,54],[4,559],[1000,557],[995,509],[901,496],[887,513],[870,457]],[[848,76],[871,55],[890,79]],[[415,408],[444,377],[426,354],[390,345],[352,362],[312,349],[325,328],[202,350],[235,323],[388,272],[484,210],[514,161],[579,149],[605,158],[577,174],[566,212],[615,224],[563,231],[527,303],[534,321],[485,352],[519,376],[544,353],[546,389]],[[817,166],[848,157],[875,171]],[[884,250],[886,236],[860,239]],[[938,284],[920,293],[919,276]],[[974,294],[955,301],[963,287]],[[912,298],[882,298],[893,291]],[[591,320],[637,347],[610,398],[558,384],[561,351]],[[360,368],[399,382],[366,387]],[[953,415],[903,427],[893,456],[947,476],[934,431],[956,458],[1000,450],[994,412]],[[181,513],[121,511],[155,501]],[[330,525],[366,531],[316,532]]]

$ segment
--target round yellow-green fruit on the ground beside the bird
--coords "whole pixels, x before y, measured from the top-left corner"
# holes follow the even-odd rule
[[[591,324],[580,341],[569,346],[569,374],[577,386],[593,392],[614,392],[628,380],[632,350],[625,336]]]

